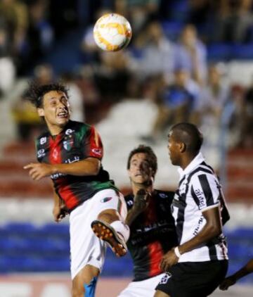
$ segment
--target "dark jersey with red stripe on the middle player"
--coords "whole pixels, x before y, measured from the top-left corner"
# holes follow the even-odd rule
[[[134,281],[141,281],[161,274],[162,257],[172,247],[177,246],[171,202],[174,192],[154,190],[150,203],[130,226],[127,247],[134,260]],[[125,196],[130,210],[134,205],[134,195]]]

